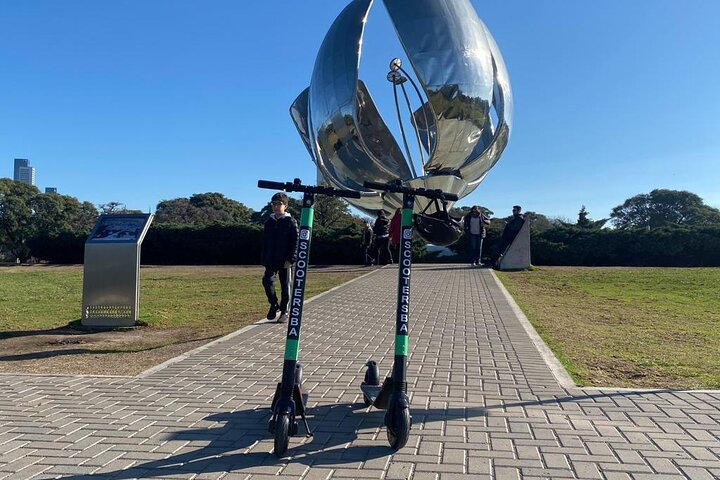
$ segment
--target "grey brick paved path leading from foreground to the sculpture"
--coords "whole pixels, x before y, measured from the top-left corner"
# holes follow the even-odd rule
[[[492,273],[413,270],[414,426],[392,454],[363,408],[391,366],[396,270],[307,304],[315,437],[266,432],[285,326],[260,324],[137,378],[0,376],[0,479],[720,478],[720,392],[562,387]],[[93,474],[90,477],[90,474]]]

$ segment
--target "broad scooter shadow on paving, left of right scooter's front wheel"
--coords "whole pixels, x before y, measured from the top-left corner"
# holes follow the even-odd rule
[[[283,459],[267,451],[253,450],[261,440],[267,440],[270,442],[269,445],[272,445],[272,437],[267,430],[270,410],[264,408],[213,414],[204,420],[223,423],[223,425],[183,430],[169,434],[167,437],[169,442],[179,442],[178,448],[186,442],[207,442],[205,447],[197,450],[141,463],[126,470],[61,478],[93,480],[100,476],[130,479],[273,466],[279,471],[286,465],[295,463],[308,466],[338,465],[387,457],[393,453],[393,450],[387,444],[384,432],[373,442],[374,445],[345,447],[357,440],[359,430],[374,432],[378,427],[383,426],[384,411],[373,409],[365,413],[365,410],[367,407],[362,403],[309,408],[308,422],[314,436],[307,442],[301,443],[305,431],[301,424],[298,435],[290,438],[288,454],[291,456]],[[260,448],[265,448],[267,445],[266,443]]]

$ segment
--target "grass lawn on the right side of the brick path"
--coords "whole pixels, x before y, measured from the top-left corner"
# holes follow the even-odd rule
[[[498,277],[579,385],[720,388],[720,268]]]

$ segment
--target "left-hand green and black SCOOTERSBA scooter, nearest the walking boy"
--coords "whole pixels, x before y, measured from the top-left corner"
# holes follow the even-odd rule
[[[310,259],[310,238],[312,236],[313,205],[315,195],[328,195],[332,197],[360,198],[360,192],[355,190],[337,190],[332,187],[302,185],[299,178],[293,182],[271,182],[258,180],[259,188],[270,190],[284,190],[286,192],[302,192],[302,211],[300,214],[300,231],[298,233],[297,260],[295,275],[290,292],[290,307],[288,319],[287,338],[285,340],[285,360],[283,362],[282,380],[278,383],[273,396],[271,410],[272,417],[268,430],[275,436],[275,455],[285,456],[288,449],[289,437],[297,435],[299,414],[305,425],[307,436],[312,436],[305,417],[307,397],[302,393],[302,364],[298,363],[300,349],[300,326],[302,320],[303,299],[305,297],[305,280]]]

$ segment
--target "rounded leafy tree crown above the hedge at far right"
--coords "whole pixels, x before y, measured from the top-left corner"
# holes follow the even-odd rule
[[[653,229],[663,225],[720,223],[720,210],[684,190],[655,189],[628,198],[610,214],[616,227]]]

